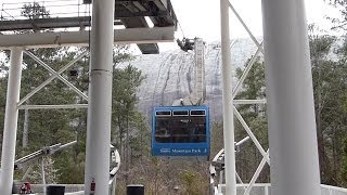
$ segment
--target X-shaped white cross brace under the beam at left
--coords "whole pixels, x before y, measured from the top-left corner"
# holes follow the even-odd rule
[[[37,56],[35,56],[31,52],[28,51],[24,51],[25,54],[29,55],[34,61],[36,61],[37,63],[39,63],[41,66],[43,66],[48,72],[50,72],[52,74],[52,76],[50,78],[48,78],[44,82],[42,82],[39,87],[37,87],[36,89],[34,89],[29,94],[27,94],[23,100],[21,100],[20,104],[23,104],[23,102],[25,102],[27,99],[29,99],[31,95],[34,95],[36,92],[38,92],[40,89],[42,89],[46,84],[50,83],[54,78],[59,78],[61,81],[63,81],[66,86],[68,86],[72,90],[74,90],[77,94],[79,94],[82,99],[88,100],[88,96],[81,92],[79,89],[77,89],[73,83],[70,83],[68,80],[66,80],[63,76],[61,76],[60,74],[63,73],[65,69],[67,69],[69,66],[72,66],[75,62],[77,62],[79,58],[81,58],[83,55],[79,55],[78,57],[76,57],[76,60],[72,61],[74,63],[69,63],[66,66],[64,66],[61,69],[61,73],[55,72],[54,69],[52,69],[49,65],[47,65],[44,62],[42,62],[40,58],[38,58]]]

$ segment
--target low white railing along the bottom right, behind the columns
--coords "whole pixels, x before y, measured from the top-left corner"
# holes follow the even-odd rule
[[[248,184],[237,184],[237,195],[271,195],[270,183],[256,183],[249,194],[245,194]],[[214,188],[215,195],[224,194],[224,184],[219,184]],[[321,195],[347,195],[347,188],[321,184]]]

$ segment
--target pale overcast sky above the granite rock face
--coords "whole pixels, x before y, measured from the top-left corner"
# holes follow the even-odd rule
[[[219,0],[171,0],[176,15],[182,30],[179,28],[176,36],[182,38],[201,37],[206,41],[220,40]],[[256,36],[262,35],[261,0],[231,0],[230,1],[246,25]],[[321,28],[329,29],[329,16],[338,16],[337,9],[327,5],[323,0],[305,0],[306,15],[309,24],[316,23]],[[231,14],[231,37],[247,37],[236,17]],[[160,44],[162,51],[169,50],[171,44]],[[164,46],[164,47],[163,47]]]

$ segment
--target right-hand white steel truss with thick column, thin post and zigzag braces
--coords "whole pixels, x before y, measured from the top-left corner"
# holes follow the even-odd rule
[[[221,10],[221,40],[223,66],[223,133],[224,136],[224,165],[226,165],[226,194],[236,194],[236,179],[242,179],[235,172],[235,151],[229,142],[234,142],[235,116],[241,122],[257,150],[262,155],[256,172],[244,195],[249,195],[264,166],[271,160],[271,187],[272,194],[319,194],[319,160],[317,151],[317,134],[314,123],[314,105],[312,78],[310,72],[309,44],[307,23],[305,18],[304,1],[267,0],[261,1],[264,14],[265,44],[258,42],[241,15],[229,0],[220,0]],[[257,51],[246,65],[243,75],[232,95],[231,82],[226,77],[231,76],[230,49],[223,42],[230,41],[229,10],[237,17],[250,39],[257,46]],[[265,47],[265,49],[262,49]],[[267,64],[267,99],[272,104],[268,105],[267,116],[269,123],[269,141],[271,151],[264,150],[257,138],[247,126],[235,105],[265,104],[266,100],[234,100],[242,89],[257,56],[262,53]],[[305,84],[301,84],[305,83]],[[226,92],[224,92],[226,91]],[[224,99],[228,99],[227,101]],[[229,120],[229,121],[226,121]],[[226,125],[227,123],[227,125]],[[230,127],[228,127],[230,126]],[[234,174],[234,176],[233,176]],[[217,193],[221,193],[221,185]],[[216,190],[216,188],[215,188]],[[266,187],[268,193],[268,187]]]

